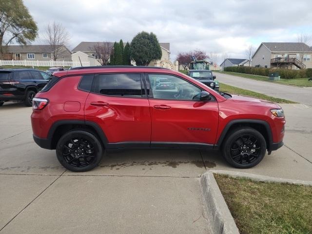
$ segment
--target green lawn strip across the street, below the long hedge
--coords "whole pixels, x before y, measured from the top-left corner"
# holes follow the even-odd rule
[[[280,84],[288,84],[288,85],[295,85],[295,86],[302,86],[302,87],[312,87],[312,81],[309,81],[308,80],[309,78],[280,79],[280,80],[269,81],[268,77],[263,77],[263,76],[255,76],[255,75],[243,74],[243,73],[237,73],[237,72],[220,72],[220,71],[217,71],[217,72],[229,74],[229,75],[236,76],[236,77],[275,82],[275,83],[280,83]]]

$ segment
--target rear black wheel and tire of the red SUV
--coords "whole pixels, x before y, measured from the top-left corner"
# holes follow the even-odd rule
[[[73,172],[86,172],[95,168],[100,162],[103,146],[92,133],[72,130],[60,137],[56,153],[60,164],[66,169]]]

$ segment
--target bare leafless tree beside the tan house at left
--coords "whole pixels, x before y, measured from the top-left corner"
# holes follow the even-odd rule
[[[65,45],[68,43],[70,36],[62,24],[55,21],[48,23],[44,28],[43,38],[51,51],[51,59],[56,61],[64,57],[67,52]]]

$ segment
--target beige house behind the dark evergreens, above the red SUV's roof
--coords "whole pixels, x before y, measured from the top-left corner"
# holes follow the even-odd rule
[[[81,53],[79,54],[80,59],[87,59],[86,61],[90,60],[90,66],[92,66],[91,64],[93,64],[93,60],[95,60],[95,66],[99,66],[101,65],[98,60],[97,60],[97,55],[94,51],[94,47],[97,44],[101,44],[101,43],[105,43],[105,42],[98,42],[98,41],[82,41],[80,42],[73,50],[72,50],[72,61],[76,61],[78,59],[78,52],[83,53],[84,55],[82,55]],[[112,43],[112,45],[114,44],[114,42],[110,42]],[[172,63],[170,61],[170,43],[159,43],[160,44],[160,48],[161,48],[161,59],[156,60],[156,61],[151,61],[149,66],[163,66],[163,67],[169,67],[172,69],[177,68],[176,67],[176,63]],[[125,46],[126,43],[124,42],[123,45]],[[94,58],[94,59],[92,59]],[[79,59],[78,59],[79,60]],[[78,61],[77,60],[77,61]],[[82,59],[81,59],[82,61]],[[135,65],[135,62],[132,61],[131,62],[133,65]],[[176,70],[176,69],[175,69]]]

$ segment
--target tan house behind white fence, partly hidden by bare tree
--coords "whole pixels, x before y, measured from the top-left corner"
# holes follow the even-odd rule
[[[61,46],[57,61],[71,61],[71,52]],[[51,49],[48,45],[8,45],[4,48],[3,60],[51,60]]]

